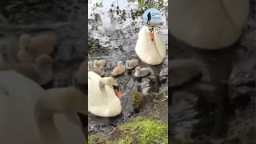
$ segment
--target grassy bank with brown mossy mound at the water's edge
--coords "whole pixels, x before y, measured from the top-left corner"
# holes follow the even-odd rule
[[[153,103],[147,107],[144,104],[152,104],[155,98],[162,99],[168,95],[166,87],[161,87],[158,93],[146,93],[133,90],[131,92],[132,106],[134,110],[139,110],[139,113],[131,118],[130,122],[122,123],[114,128],[111,132],[103,134],[90,134],[89,144],[106,143],[106,144],[167,144],[168,143],[168,124],[167,121],[162,121],[164,115],[155,113],[155,109],[151,106],[161,105],[162,103]],[[165,107],[164,107],[165,108]],[[143,109],[143,110],[141,110]],[[146,110],[146,111],[145,111]],[[144,112],[143,112],[144,111]],[[165,112],[164,112],[165,113]],[[166,114],[166,113],[165,113]],[[151,115],[151,116],[148,116]],[[152,116],[153,115],[153,116]],[[158,118],[154,118],[159,116]],[[183,141],[179,141],[183,142]],[[189,141],[184,141],[182,144],[193,144]]]

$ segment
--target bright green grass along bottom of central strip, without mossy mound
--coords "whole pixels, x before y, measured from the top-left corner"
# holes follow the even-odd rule
[[[146,144],[146,143],[168,143],[168,125],[141,117],[121,124],[110,134],[90,134],[89,144]]]

